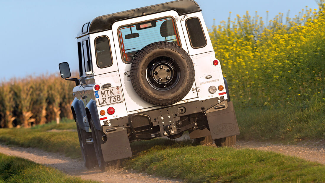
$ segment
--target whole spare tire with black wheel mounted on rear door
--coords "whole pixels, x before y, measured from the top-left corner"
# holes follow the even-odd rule
[[[136,93],[161,106],[182,100],[191,90],[194,74],[188,53],[170,42],[152,43],[139,50],[130,71]]]

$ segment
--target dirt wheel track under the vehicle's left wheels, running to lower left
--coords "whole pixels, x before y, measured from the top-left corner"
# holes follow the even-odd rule
[[[59,153],[46,152],[36,148],[22,148],[0,144],[0,152],[7,155],[22,157],[36,163],[52,166],[70,175],[82,179],[91,179],[101,182],[112,183],[137,183],[137,182],[159,182],[159,183],[181,183],[180,180],[163,179],[161,177],[130,172],[123,168],[102,172],[98,167],[88,170],[78,159],[71,159]]]

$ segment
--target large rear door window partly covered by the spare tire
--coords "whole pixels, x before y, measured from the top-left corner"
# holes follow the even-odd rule
[[[175,22],[172,18],[150,20],[119,29],[122,58],[131,63],[136,52],[150,43],[158,41],[172,42],[180,46]]]

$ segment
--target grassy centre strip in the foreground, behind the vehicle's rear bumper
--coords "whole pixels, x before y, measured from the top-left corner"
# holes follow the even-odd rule
[[[167,140],[168,141],[168,140]],[[325,166],[274,152],[162,142],[123,162],[139,172],[186,182],[324,182]],[[135,145],[145,145],[144,142]],[[134,145],[134,146],[135,146]],[[144,148],[142,148],[144,149]]]

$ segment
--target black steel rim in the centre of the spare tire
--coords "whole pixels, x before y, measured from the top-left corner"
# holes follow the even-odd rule
[[[180,74],[177,62],[165,56],[152,59],[146,70],[149,85],[158,91],[174,88],[180,80]]]

